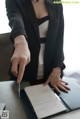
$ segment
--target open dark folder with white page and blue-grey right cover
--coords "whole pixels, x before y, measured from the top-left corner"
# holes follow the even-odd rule
[[[69,83],[69,93],[56,93],[43,84],[25,87],[21,95],[27,103],[29,119],[42,119],[80,108],[80,87],[72,78],[64,78]],[[76,97],[76,98],[75,98]],[[31,117],[32,115],[32,117]]]

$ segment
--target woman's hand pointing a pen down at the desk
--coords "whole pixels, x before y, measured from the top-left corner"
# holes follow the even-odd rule
[[[25,66],[30,62],[30,51],[23,35],[14,39],[14,46],[15,50],[11,57],[11,72],[17,77],[17,83],[19,83],[23,78]]]

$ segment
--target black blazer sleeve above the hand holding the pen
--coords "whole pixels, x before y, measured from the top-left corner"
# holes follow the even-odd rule
[[[6,0],[6,11],[9,19],[9,26],[11,27],[10,39],[14,39],[18,35],[24,35],[27,38],[22,16],[17,7],[16,0]]]

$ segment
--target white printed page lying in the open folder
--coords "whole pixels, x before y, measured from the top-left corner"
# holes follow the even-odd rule
[[[26,87],[25,92],[38,119],[67,110],[61,99],[48,86],[43,84]]]

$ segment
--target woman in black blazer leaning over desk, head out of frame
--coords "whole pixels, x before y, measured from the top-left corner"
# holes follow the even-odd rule
[[[68,92],[63,75],[63,8],[53,0],[6,0],[14,43],[11,78]]]

